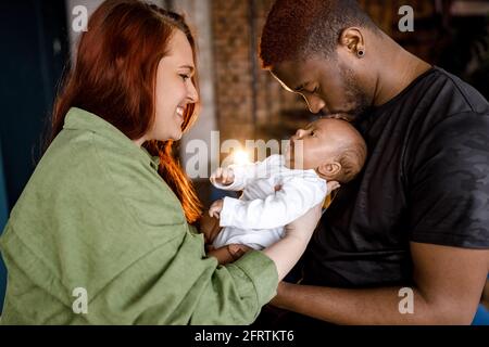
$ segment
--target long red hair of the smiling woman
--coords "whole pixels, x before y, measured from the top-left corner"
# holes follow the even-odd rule
[[[138,0],[104,1],[88,22],[76,63],[65,76],[54,103],[50,142],[62,130],[71,107],[98,115],[130,140],[146,134],[155,117],[158,65],[168,53],[175,30],[186,35],[196,61],[196,43],[183,16]],[[197,75],[192,79],[197,86]],[[196,118],[197,104],[188,104],[183,130]],[[145,147],[160,156],[159,172],[178,196],[187,221],[197,221],[202,207],[172,153],[173,141],[149,141]]]

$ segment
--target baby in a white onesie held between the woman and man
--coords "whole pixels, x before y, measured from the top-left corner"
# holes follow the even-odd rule
[[[214,187],[242,191],[242,195],[218,200],[209,209],[224,227],[209,255],[225,264],[233,261],[226,245],[263,249],[277,242],[286,224],[323,203],[339,184],[351,181],[365,157],[365,141],[353,126],[323,118],[299,129],[285,155],[217,169],[211,176]]]

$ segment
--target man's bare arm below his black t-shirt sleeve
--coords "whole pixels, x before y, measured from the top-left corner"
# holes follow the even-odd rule
[[[280,283],[272,304],[337,324],[471,324],[489,270],[489,249],[411,243],[413,313],[400,287],[344,290]],[[401,305],[402,306],[402,305]]]

